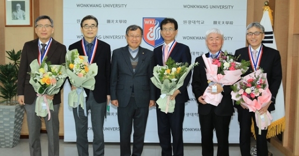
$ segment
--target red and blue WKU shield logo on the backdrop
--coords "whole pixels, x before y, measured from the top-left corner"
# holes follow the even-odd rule
[[[164,18],[143,17],[143,38],[152,47],[161,45],[164,40],[160,33],[160,23]]]

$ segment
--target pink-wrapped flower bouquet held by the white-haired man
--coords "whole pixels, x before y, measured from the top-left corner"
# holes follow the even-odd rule
[[[241,75],[248,70],[250,65],[249,61],[242,60],[236,62],[236,57],[228,55],[227,51],[221,52],[218,58],[210,59],[202,55],[203,61],[205,63],[205,70],[207,80],[210,85],[219,83],[222,85],[232,85],[241,79]],[[205,102],[218,106],[221,102],[222,94],[211,94],[208,90],[209,86],[206,88],[202,98]]]

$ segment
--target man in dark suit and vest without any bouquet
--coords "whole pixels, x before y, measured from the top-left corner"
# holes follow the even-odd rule
[[[121,156],[141,156],[149,107],[154,106],[153,53],[140,46],[143,30],[130,25],[126,30],[128,45],[115,49],[111,60],[111,103],[118,107]]]

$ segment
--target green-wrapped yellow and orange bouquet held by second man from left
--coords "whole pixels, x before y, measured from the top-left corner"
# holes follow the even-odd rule
[[[71,85],[76,89],[72,90],[68,95],[68,105],[72,108],[86,108],[87,96],[84,88],[94,90],[95,88],[95,76],[98,74],[98,66],[96,63],[88,64],[87,56],[79,56],[77,49],[67,51],[66,56],[66,73],[69,77]],[[86,111],[84,111],[87,116]]]

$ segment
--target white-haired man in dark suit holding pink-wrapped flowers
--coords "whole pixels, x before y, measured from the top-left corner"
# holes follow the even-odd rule
[[[223,32],[217,28],[212,28],[206,32],[206,45],[209,52],[205,54],[207,59],[217,58],[222,53]],[[205,63],[202,56],[195,59],[199,65],[194,67],[192,76],[192,91],[198,103],[199,123],[201,128],[202,156],[214,156],[213,130],[216,131],[218,150],[217,156],[229,156],[228,134],[229,123],[234,112],[233,101],[231,99],[230,86],[214,84],[217,92],[212,94],[222,94],[223,97],[218,106],[208,104],[202,98],[203,93],[209,86],[207,83]],[[211,87],[211,86],[210,86]],[[208,89],[211,91],[211,88]]]

